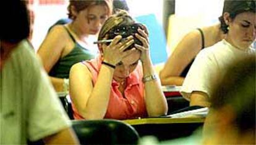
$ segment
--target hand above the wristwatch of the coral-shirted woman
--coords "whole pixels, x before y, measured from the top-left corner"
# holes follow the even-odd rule
[[[135,47],[139,49],[142,54],[140,55],[140,60],[142,63],[145,61],[150,61],[150,51],[149,51],[149,40],[148,40],[148,30],[145,26],[143,29],[138,29],[139,34],[135,34],[135,36],[142,42],[142,45],[135,44]]]

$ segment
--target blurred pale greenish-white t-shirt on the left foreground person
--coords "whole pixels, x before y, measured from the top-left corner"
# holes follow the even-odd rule
[[[31,45],[23,40],[0,71],[0,144],[26,144],[70,127]]]

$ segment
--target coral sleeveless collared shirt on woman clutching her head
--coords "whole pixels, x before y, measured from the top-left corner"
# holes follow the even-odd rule
[[[101,68],[101,57],[90,61],[83,61],[84,65],[92,73],[93,85],[95,85]],[[144,84],[142,82],[142,65],[139,63],[137,68],[127,77],[127,85],[124,90],[124,96],[118,90],[119,84],[113,79],[111,84],[111,93],[108,103],[108,109],[105,119],[133,119],[137,117],[147,117],[147,109],[144,98]],[[74,119],[84,119],[72,104]]]

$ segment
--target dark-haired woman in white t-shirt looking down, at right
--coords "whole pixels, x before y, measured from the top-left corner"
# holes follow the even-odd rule
[[[182,85],[181,93],[190,100],[190,106],[210,106],[212,88],[223,78],[227,66],[255,55],[250,47],[256,37],[255,3],[224,1],[220,22],[226,37],[197,55]]]

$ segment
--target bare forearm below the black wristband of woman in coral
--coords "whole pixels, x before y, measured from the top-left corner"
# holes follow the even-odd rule
[[[103,119],[108,109],[114,69],[102,65],[85,109],[86,119]]]

